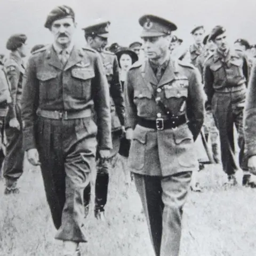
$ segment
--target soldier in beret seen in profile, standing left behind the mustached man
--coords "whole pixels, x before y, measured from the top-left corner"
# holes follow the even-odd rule
[[[3,173],[5,178],[4,194],[18,194],[17,181],[23,172],[24,151],[22,149],[21,93],[22,77],[25,71],[23,58],[27,55],[27,36],[12,35],[6,43],[10,50],[9,58],[4,63],[7,78],[10,81],[11,102],[6,116],[5,133],[7,137],[6,157]]]

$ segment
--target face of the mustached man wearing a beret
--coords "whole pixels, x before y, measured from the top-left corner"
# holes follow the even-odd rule
[[[51,32],[57,44],[67,46],[72,40],[75,29],[76,23],[72,18],[63,18],[52,23]]]

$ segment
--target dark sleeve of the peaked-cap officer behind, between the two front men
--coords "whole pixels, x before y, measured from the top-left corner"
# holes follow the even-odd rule
[[[110,95],[115,103],[116,113],[122,126],[124,126],[124,98],[122,86],[119,81],[119,68],[117,58],[113,63],[113,79],[110,84]]]

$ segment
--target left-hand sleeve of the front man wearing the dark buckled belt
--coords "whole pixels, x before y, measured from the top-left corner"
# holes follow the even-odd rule
[[[124,101],[125,101],[125,129],[134,129],[137,124],[137,107],[133,102],[133,85],[131,81],[131,70],[127,73],[127,79],[124,83]]]

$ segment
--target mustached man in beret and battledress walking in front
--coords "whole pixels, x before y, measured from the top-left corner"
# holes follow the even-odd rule
[[[41,163],[47,202],[58,229],[55,238],[63,241],[63,255],[71,256],[77,255],[78,243],[87,240],[84,189],[95,169],[97,126],[100,157],[109,157],[111,149],[109,89],[98,53],[74,43],[76,23],[70,7],[55,7],[44,26],[54,42],[28,61],[23,145],[29,162]]]

